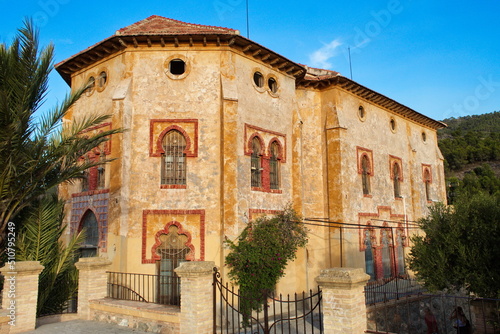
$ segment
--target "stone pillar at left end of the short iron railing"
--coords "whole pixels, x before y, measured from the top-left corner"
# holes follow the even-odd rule
[[[78,314],[90,320],[89,301],[106,297],[106,269],[111,262],[102,257],[82,257],[75,263],[78,269]]]

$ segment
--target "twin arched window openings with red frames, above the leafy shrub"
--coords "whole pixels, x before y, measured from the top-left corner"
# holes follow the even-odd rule
[[[264,168],[262,166],[263,148],[260,140],[257,137],[252,139],[252,160],[250,167],[251,186],[255,188],[262,187],[262,176]],[[280,164],[279,164],[280,146],[276,141],[273,141],[270,146],[269,157],[269,178],[270,188],[280,188]]]

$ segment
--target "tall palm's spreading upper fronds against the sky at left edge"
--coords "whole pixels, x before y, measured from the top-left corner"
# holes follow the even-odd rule
[[[36,120],[34,114],[46,97],[53,52],[52,44],[39,49],[38,31],[30,20],[25,20],[10,46],[0,44],[0,245],[7,223],[19,224],[14,218],[21,210],[59,184],[81,178],[87,168],[107,162],[80,158],[121,132],[81,135],[109,115],[89,115],[62,125],[86,87]]]

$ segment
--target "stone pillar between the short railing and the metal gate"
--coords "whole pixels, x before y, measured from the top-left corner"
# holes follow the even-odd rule
[[[181,278],[181,334],[213,331],[213,261],[182,262],[175,269]]]

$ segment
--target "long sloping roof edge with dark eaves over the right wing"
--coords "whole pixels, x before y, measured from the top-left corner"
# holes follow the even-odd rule
[[[306,69],[307,73],[302,79],[297,81],[297,87],[324,90],[332,86],[337,86],[373,104],[389,109],[404,118],[432,129],[437,130],[446,127],[445,123],[427,117],[385,95],[377,93],[356,81],[340,75],[338,72],[315,69],[307,66]]]

